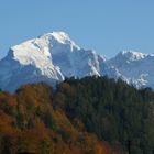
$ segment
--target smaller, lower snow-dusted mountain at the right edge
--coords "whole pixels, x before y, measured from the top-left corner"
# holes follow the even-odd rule
[[[154,88],[154,55],[134,51],[120,52],[108,61],[108,65],[114,66],[122,75],[123,80],[133,84],[138,88]]]

